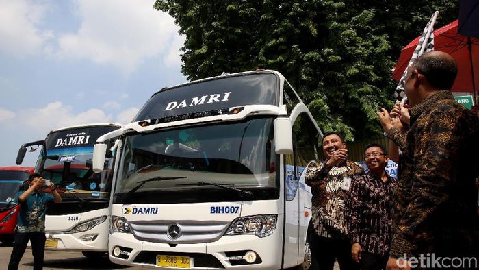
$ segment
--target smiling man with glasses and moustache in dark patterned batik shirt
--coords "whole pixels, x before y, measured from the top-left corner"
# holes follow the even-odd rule
[[[352,180],[348,201],[351,255],[361,270],[386,269],[396,180],[386,173],[389,158],[382,145],[367,145],[364,160],[369,171]]]

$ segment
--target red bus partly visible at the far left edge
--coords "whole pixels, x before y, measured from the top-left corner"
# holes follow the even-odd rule
[[[0,167],[0,241],[10,244],[14,241],[16,217],[20,205],[16,193],[20,186],[34,173],[34,167]]]

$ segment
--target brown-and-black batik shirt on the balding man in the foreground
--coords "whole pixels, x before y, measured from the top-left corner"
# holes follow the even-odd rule
[[[391,256],[462,254],[478,243],[479,119],[449,91],[411,108],[411,129],[386,136],[404,149],[393,201]]]

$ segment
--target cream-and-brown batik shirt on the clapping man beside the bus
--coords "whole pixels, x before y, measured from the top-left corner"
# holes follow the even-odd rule
[[[363,167],[346,160],[339,167],[328,167],[326,161],[311,162],[306,168],[305,182],[311,186],[312,220],[316,233],[328,238],[348,236],[346,199],[354,175],[364,173]]]

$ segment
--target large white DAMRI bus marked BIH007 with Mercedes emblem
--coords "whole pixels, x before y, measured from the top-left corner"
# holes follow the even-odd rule
[[[302,267],[311,219],[302,171],[318,158],[320,134],[276,71],[160,90],[94,146],[94,171],[102,171],[105,142],[120,138],[110,260],[161,269]]]

